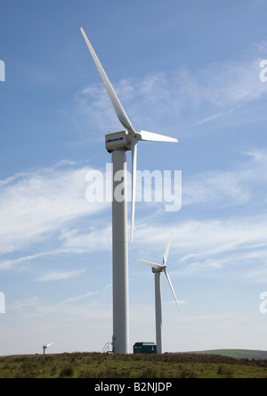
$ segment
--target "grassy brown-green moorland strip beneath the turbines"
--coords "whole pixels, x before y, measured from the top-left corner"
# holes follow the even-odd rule
[[[0,378],[267,378],[267,360],[218,355],[61,355],[0,358]]]

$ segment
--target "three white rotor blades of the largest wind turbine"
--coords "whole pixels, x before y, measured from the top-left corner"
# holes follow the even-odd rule
[[[117,94],[112,87],[109,78],[103,69],[101,62],[99,61],[97,55],[93,50],[93,46],[91,45],[88,37],[85,34],[85,30],[81,28],[81,32],[85,38],[85,43],[89,48],[90,53],[92,54],[93,61],[101,75],[101,79],[106,87],[106,90],[109,94],[109,99],[114,107],[114,110],[117,114],[117,119],[123,125],[123,127],[127,130],[128,136],[131,141],[131,150],[132,150],[132,218],[131,218],[131,242],[134,240],[134,213],[135,213],[135,194],[136,194],[136,171],[137,171],[137,143],[139,141],[143,142],[167,142],[167,143],[178,143],[178,140],[174,137],[168,137],[163,135],[158,135],[152,132],[141,131],[136,132],[134,127],[129,120],[125,109],[120,103]]]

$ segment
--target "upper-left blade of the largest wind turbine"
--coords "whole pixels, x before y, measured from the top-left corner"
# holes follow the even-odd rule
[[[95,52],[93,50],[93,46],[91,45],[88,37],[85,34],[85,30],[83,28],[81,28],[81,32],[85,38],[85,43],[88,46],[91,55],[93,56],[93,61],[101,75],[104,86],[107,89],[110,101],[114,107],[114,110],[116,111],[118,120],[130,133],[134,133],[134,128],[131,124],[131,121],[128,119],[127,114],[125,113],[125,110],[124,110],[122,104],[119,102],[119,100],[117,98],[117,94],[116,94],[114,88],[112,87],[112,85],[109,81],[109,78],[108,78],[105,70],[103,69],[101,62],[99,61],[97,55],[95,54]]]

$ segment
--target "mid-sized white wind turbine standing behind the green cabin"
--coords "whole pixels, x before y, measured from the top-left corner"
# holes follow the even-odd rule
[[[150,261],[145,261],[145,260],[137,260],[140,261],[143,264],[146,264],[152,268],[152,272],[155,274],[155,313],[156,313],[156,339],[157,339],[157,352],[162,353],[162,309],[161,309],[161,285],[160,285],[160,275],[162,272],[165,273],[167,281],[171,287],[172,293],[174,294],[174,300],[177,304],[178,309],[179,308],[179,303],[177,301],[175,292],[174,292],[174,287],[172,285],[170,276],[168,276],[168,273],[166,271],[166,263],[168,259],[168,255],[170,252],[170,247],[172,243],[172,236],[170,237],[170,240],[167,244],[166,247],[166,252],[163,256],[163,264],[157,264],[154,262]]]

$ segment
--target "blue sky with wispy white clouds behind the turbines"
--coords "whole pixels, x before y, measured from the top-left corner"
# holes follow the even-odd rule
[[[138,202],[131,344],[155,340],[149,268],[171,232],[165,351],[267,350],[265,0],[2,0],[0,354],[101,351],[112,335],[111,209],[85,200],[120,130],[83,26],[136,130],[138,169],[182,170],[182,210]],[[130,157],[129,157],[130,160]]]

